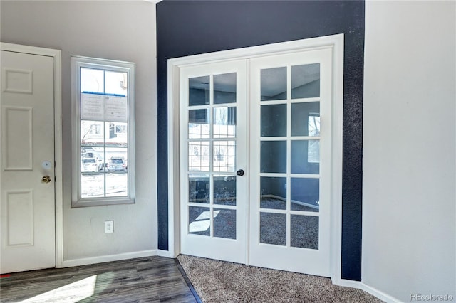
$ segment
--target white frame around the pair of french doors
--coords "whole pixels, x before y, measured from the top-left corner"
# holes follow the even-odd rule
[[[215,53],[173,58],[167,62],[167,148],[168,148],[168,251],[160,255],[177,257],[180,254],[180,68],[227,60],[257,58],[266,55],[295,53],[324,48],[333,49],[333,87],[331,138],[331,280],[341,285],[342,248],[342,119],[343,119],[343,34],[266,44]],[[247,70],[249,73],[249,70]],[[249,87],[249,83],[247,83]],[[248,88],[247,88],[248,90]],[[247,107],[249,108],[249,107]],[[249,117],[249,111],[247,111]],[[247,134],[247,141],[249,140]],[[247,211],[247,216],[249,212]],[[247,230],[249,233],[249,230]],[[246,248],[248,255],[248,240]],[[247,258],[247,265],[249,259]]]

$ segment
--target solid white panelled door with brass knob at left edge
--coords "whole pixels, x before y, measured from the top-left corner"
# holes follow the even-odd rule
[[[56,264],[53,64],[1,50],[1,273]]]

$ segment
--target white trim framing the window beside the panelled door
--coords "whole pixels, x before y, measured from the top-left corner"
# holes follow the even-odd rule
[[[124,72],[128,75],[128,197],[81,198],[80,68],[100,68]],[[80,56],[71,57],[71,105],[73,176],[71,207],[135,203],[135,63]]]

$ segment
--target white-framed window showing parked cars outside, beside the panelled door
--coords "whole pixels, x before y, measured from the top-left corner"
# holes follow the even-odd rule
[[[135,63],[73,57],[73,207],[134,203]]]

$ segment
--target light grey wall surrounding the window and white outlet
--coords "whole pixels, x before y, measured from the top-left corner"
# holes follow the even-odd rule
[[[65,264],[155,252],[155,4],[2,0],[0,9],[1,41],[62,50]],[[136,63],[137,183],[133,205],[71,208],[71,55]],[[105,220],[114,221],[114,233],[104,233]]]

